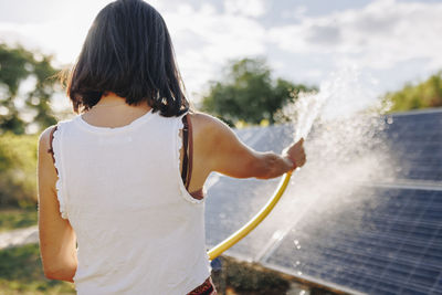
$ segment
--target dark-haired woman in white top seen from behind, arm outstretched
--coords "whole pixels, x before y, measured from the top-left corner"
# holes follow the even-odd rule
[[[206,179],[278,177],[304,165],[303,141],[257,152],[190,110],[166,24],[141,0],[98,13],[67,82],[77,116],[39,140],[45,275],[78,294],[215,294]]]

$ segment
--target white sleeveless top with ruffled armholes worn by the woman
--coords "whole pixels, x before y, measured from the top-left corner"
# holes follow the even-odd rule
[[[182,295],[210,276],[204,200],[180,176],[182,116],[149,110],[116,128],[81,115],[59,123],[56,190],[77,236],[77,294]]]

